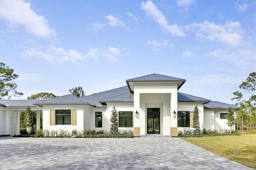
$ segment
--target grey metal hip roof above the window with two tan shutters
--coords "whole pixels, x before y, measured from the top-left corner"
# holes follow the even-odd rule
[[[42,104],[90,104],[80,98],[77,98],[76,96],[73,96],[71,94],[60,96],[48,100],[42,100],[39,102],[35,102],[35,105],[42,105]],[[92,105],[92,104],[90,104]]]

